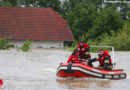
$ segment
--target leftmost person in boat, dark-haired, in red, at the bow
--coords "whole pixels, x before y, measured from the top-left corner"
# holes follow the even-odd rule
[[[69,57],[67,63],[80,63],[80,60],[79,60],[79,51],[78,49],[75,49],[72,53],[72,55]]]

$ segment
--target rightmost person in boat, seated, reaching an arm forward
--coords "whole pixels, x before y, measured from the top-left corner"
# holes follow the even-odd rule
[[[113,68],[113,64],[109,52],[103,49],[99,50],[99,54],[97,58],[88,60],[88,65],[93,67],[92,62],[95,61],[99,61],[100,65],[97,67],[99,69],[112,70]]]

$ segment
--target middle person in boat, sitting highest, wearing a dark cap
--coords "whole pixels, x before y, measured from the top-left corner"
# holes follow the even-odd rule
[[[88,58],[90,58],[90,47],[87,43],[85,43],[84,40],[80,40],[78,46],[78,51],[79,51],[79,58],[80,59],[85,59],[87,60]]]

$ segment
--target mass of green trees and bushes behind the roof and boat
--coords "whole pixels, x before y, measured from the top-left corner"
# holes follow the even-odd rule
[[[72,30],[76,41],[66,44],[72,44],[73,48],[80,39],[84,39],[90,45],[103,43],[114,46],[116,50],[130,50],[130,6],[126,3],[103,6],[103,2],[104,0],[64,0],[61,4],[60,0],[1,0],[0,6],[18,6],[20,3],[25,7],[53,8],[67,20]]]

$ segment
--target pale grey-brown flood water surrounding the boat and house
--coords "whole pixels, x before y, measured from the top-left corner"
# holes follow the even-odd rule
[[[33,49],[30,52],[0,50],[0,78],[4,90],[130,90],[130,52],[115,52],[116,68],[127,79],[58,78],[59,63],[71,53],[64,50]],[[1,89],[0,89],[1,90]]]

